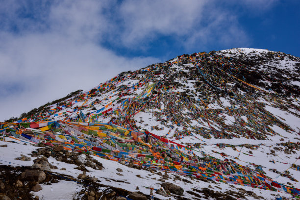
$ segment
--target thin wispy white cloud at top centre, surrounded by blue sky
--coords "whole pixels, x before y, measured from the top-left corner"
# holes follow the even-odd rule
[[[141,40],[155,39],[157,34],[183,36],[202,20],[208,1],[139,0],[124,1],[120,18],[124,23],[121,40],[131,47]]]

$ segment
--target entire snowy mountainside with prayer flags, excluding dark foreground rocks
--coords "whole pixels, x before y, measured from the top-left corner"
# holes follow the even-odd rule
[[[281,196],[291,198],[287,194],[297,196],[300,188],[299,72],[300,58],[282,52],[238,48],[185,54],[121,73],[89,91],[40,106],[15,123],[1,124],[1,132],[10,136],[9,140],[16,141],[22,134],[24,142],[63,143],[64,150],[93,152],[104,169],[89,171],[101,184],[131,192],[138,186],[144,195],[162,183],[157,180],[159,175],[153,179],[149,169],[167,170],[171,182],[181,186],[184,193],[181,197],[154,194],[158,199],[256,198],[253,194],[275,198],[272,195],[276,192],[261,189],[281,191]],[[16,154],[26,147],[18,149],[9,143],[7,148],[12,145]],[[145,169],[127,169],[114,162],[121,162],[120,152],[125,155],[123,164],[133,159],[133,166]],[[139,154],[151,156],[142,159]],[[3,156],[4,161],[13,162],[11,158],[17,155],[3,152]],[[63,158],[58,157],[51,155],[49,160],[67,170],[52,172],[78,174],[74,164],[62,163]],[[117,175],[118,167],[126,173]],[[233,184],[254,193],[243,193]],[[207,191],[208,185],[220,187],[223,195]],[[82,190],[79,186],[70,188],[74,193]],[[45,199],[50,195],[44,189],[38,194]],[[79,198],[78,194],[74,198]]]

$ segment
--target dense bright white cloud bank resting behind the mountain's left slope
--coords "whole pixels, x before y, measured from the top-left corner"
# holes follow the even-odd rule
[[[75,43],[56,34],[7,36],[5,40],[0,50],[1,121],[159,61],[125,58],[93,43]]]

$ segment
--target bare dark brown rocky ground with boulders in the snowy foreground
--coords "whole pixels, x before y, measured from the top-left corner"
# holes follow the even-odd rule
[[[73,177],[70,175],[52,173],[51,169],[57,169],[57,167],[49,163],[47,157],[50,156],[54,157],[56,160],[77,165],[75,169],[81,170],[82,174],[77,175],[77,177]],[[86,168],[91,167],[96,170],[102,170],[103,166],[99,161],[93,159],[87,154],[66,151],[62,148],[62,146],[42,147],[32,151],[31,157],[21,155],[21,157],[17,159],[33,159],[34,164],[32,166],[18,167],[0,165],[0,200],[38,200],[39,197],[33,196],[30,193],[31,191],[38,192],[43,189],[41,185],[55,184],[61,180],[73,181],[78,185],[80,184],[81,190],[75,194],[74,200],[126,200],[126,198],[131,200],[151,199],[150,195],[143,194],[141,192],[131,192],[123,188],[101,184],[97,178],[91,177],[87,174],[89,171]],[[134,166],[131,166],[129,163],[127,167]],[[178,179],[186,183],[191,183],[189,180],[190,177],[175,175],[174,180],[172,180],[172,177],[167,173],[163,174],[160,171],[148,168],[142,168],[139,170],[161,175],[160,181],[162,182],[161,187],[163,190],[157,190],[157,194],[166,198],[172,197],[176,200],[189,200],[183,196],[184,190],[180,186],[174,184],[173,181]],[[118,168],[117,171],[120,175],[123,172],[120,168]],[[143,173],[141,172],[141,174]],[[202,181],[211,182],[212,184],[216,183],[207,179],[198,180],[200,183]],[[115,181],[117,183],[120,180],[111,179],[111,181]],[[211,185],[209,185],[208,188],[191,188],[186,192],[193,196],[193,200],[201,200],[203,198],[214,200],[235,200],[237,198],[248,199],[247,197],[250,196],[254,199],[264,199],[262,196],[257,196],[253,191],[236,188],[235,186],[231,187],[232,190],[226,192],[220,192],[218,191],[218,186],[212,187]],[[156,197],[153,199],[159,200]]]

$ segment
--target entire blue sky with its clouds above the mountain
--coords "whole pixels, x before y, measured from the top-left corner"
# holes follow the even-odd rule
[[[1,0],[0,121],[184,53],[300,56],[299,0]]]

